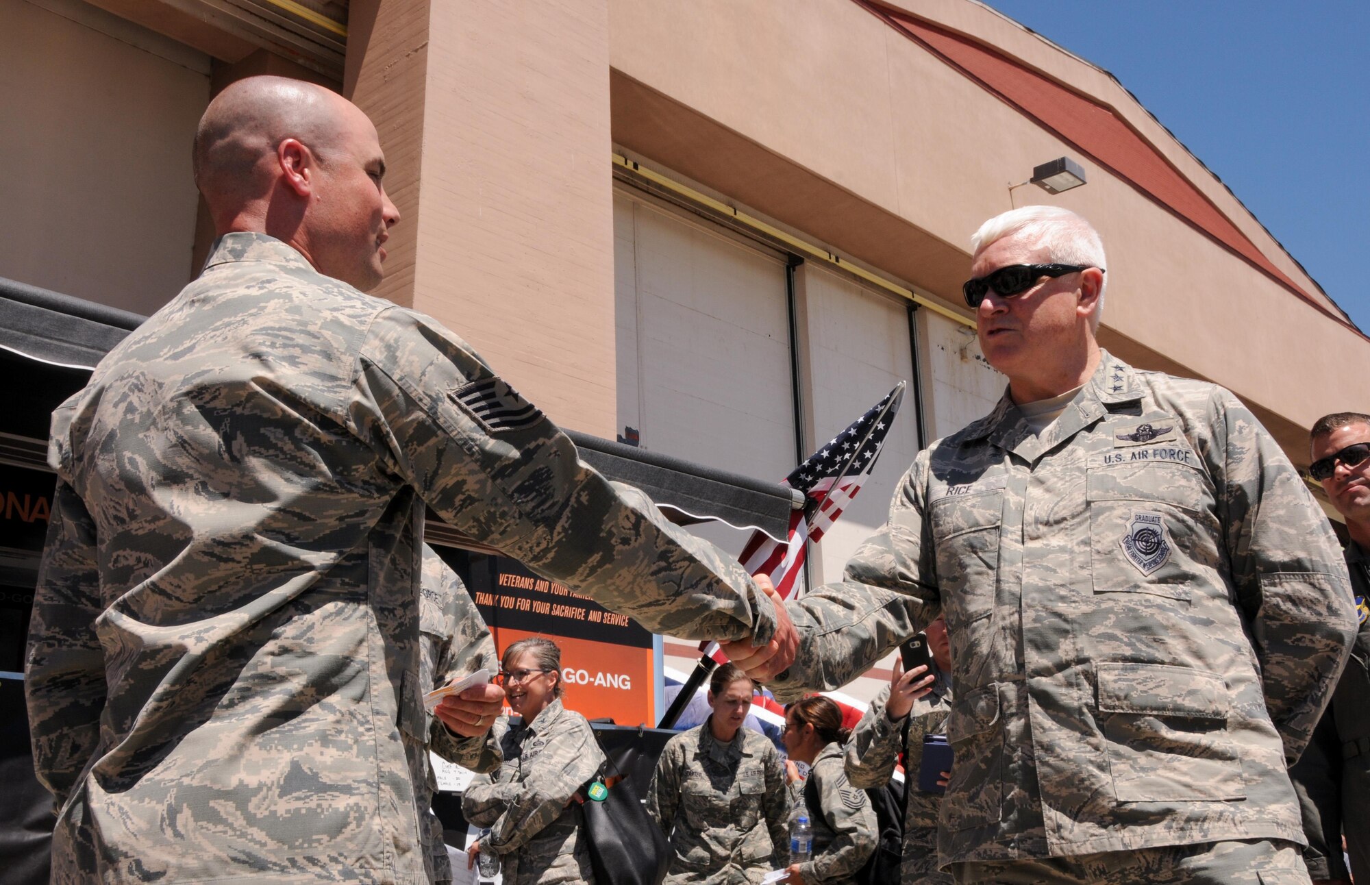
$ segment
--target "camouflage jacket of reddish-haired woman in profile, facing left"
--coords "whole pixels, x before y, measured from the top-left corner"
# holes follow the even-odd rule
[[[856,885],[856,873],[875,851],[875,811],[866,790],[847,781],[841,744],[834,741],[818,751],[808,778],[789,785],[790,803],[804,804],[810,780],[821,808],[810,808],[814,858],[799,864],[799,875],[806,885]]]

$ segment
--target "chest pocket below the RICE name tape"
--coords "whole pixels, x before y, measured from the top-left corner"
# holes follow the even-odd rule
[[[947,495],[929,507],[937,549],[937,581],[943,589],[947,626],[954,636],[954,656],[962,653],[955,648],[956,633],[993,608],[1003,510],[1003,489]]]

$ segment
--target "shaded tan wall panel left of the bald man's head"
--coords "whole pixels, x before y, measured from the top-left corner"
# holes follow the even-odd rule
[[[210,59],[77,0],[0,1],[0,277],[140,314],[190,278]]]

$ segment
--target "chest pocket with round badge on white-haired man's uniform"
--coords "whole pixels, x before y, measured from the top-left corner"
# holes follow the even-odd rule
[[[1156,460],[1091,466],[1085,485],[1095,593],[1188,601],[1195,582],[1222,584],[1212,489],[1200,470]]]

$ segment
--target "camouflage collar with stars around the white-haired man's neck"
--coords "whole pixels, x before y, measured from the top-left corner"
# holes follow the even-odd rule
[[[966,427],[966,440],[985,440],[1030,463],[1107,415],[1111,407],[1136,403],[1141,396],[1137,370],[1101,349],[1095,374],[1041,436],[1032,432],[1004,388],[995,410]]]

